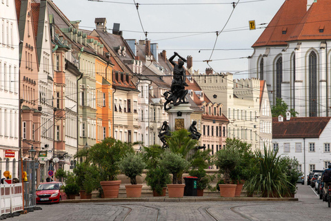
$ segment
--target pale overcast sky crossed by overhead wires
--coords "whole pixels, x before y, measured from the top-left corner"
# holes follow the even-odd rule
[[[233,1],[238,2],[235,8]],[[247,57],[254,51],[251,46],[284,1],[53,0],[68,19],[81,21],[79,28],[93,30],[94,19],[106,17],[109,29],[120,23],[124,39],[146,39],[144,32],[148,32],[147,38],[159,44],[159,52],[166,50],[168,58],[173,52],[190,55],[194,70],[204,73],[211,67],[217,73],[233,73],[238,79],[248,77]],[[253,20],[256,30],[249,28]],[[206,60],[212,60],[209,66]]]

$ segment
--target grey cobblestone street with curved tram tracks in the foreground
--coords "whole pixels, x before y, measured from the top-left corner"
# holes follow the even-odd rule
[[[41,205],[8,220],[328,220],[331,208],[307,185],[299,202],[96,202]]]

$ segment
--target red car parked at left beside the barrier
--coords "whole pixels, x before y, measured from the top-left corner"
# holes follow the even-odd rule
[[[36,203],[59,203],[66,200],[66,193],[61,189],[61,182],[43,182],[36,192]]]

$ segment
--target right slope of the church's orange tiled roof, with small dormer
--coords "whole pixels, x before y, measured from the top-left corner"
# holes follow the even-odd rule
[[[294,29],[288,41],[331,39],[331,1],[312,3],[305,17]],[[320,29],[323,32],[320,32]]]

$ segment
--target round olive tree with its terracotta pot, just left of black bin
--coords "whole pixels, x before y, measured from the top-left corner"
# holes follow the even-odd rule
[[[165,151],[161,156],[160,166],[172,173],[172,184],[168,184],[168,195],[170,198],[182,198],[185,184],[177,184],[179,173],[183,173],[188,168],[187,160],[178,153]]]

